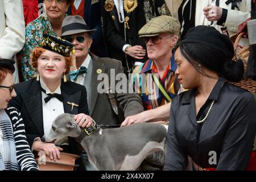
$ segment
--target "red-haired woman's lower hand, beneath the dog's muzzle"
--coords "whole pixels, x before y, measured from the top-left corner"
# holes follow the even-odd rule
[[[54,161],[60,159],[60,151],[63,151],[63,148],[55,146],[54,143],[44,143],[41,141],[35,141],[32,145],[33,150],[42,150],[46,152],[46,155]]]

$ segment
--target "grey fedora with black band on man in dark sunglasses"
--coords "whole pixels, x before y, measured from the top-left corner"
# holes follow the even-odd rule
[[[61,36],[78,34],[82,32],[93,32],[96,29],[90,30],[85,23],[84,18],[80,15],[67,16],[61,25]]]

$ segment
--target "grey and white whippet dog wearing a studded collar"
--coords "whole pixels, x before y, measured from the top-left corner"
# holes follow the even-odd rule
[[[54,143],[64,137],[75,138],[97,170],[135,170],[144,159],[153,158],[153,153],[161,151],[163,154],[160,158],[165,156],[167,127],[163,125],[137,123],[114,129],[102,130],[97,126],[82,129],[73,117],[68,113],[59,115],[53,121],[49,134],[43,138],[46,142]],[[155,164],[159,163],[162,166],[164,159],[155,160]]]

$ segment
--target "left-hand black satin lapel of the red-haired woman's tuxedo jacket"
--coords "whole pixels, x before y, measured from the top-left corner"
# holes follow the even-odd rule
[[[27,113],[30,115],[32,121],[35,123],[38,133],[43,136],[43,106],[40,82],[34,79],[30,90],[28,90],[27,93],[20,93],[20,96],[24,101]]]

